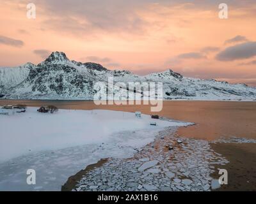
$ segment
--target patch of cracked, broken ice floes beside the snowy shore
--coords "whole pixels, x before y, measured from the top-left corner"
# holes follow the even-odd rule
[[[93,191],[211,191],[211,163],[225,165],[228,161],[205,140],[179,138],[182,143],[175,143],[177,140],[172,129],[161,131],[154,148],[151,143],[130,159],[110,158],[86,173],[74,190],[91,191],[91,184],[106,180]],[[172,151],[166,143],[173,143]]]

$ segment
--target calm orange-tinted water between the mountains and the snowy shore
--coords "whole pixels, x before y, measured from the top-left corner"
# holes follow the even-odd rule
[[[58,108],[74,110],[122,110],[141,111],[152,114],[149,105],[100,105],[93,101],[60,100],[0,100],[0,105],[27,106],[56,105]],[[190,138],[214,140],[220,136],[237,136],[256,139],[256,102],[234,101],[164,101],[163,110],[158,113],[170,119],[195,122],[196,126],[179,128],[178,134]]]

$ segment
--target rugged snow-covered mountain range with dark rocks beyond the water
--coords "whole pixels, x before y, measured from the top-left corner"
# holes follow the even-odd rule
[[[63,52],[52,52],[37,66],[0,68],[0,97],[12,99],[93,99],[95,83],[163,82],[164,99],[256,100],[256,88],[216,80],[183,77],[171,69],[146,76],[108,70],[93,62],[70,61]],[[131,91],[129,89],[120,89]],[[132,90],[132,92],[134,92]],[[143,94],[143,91],[140,92]]]

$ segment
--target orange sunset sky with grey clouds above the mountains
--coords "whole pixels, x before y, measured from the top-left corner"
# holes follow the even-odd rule
[[[0,66],[38,64],[53,51],[139,75],[256,86],[256,1],[0,0]],[[27,4],[36,18],[27,18]],[[228,18],[219,18],[219,4]]]

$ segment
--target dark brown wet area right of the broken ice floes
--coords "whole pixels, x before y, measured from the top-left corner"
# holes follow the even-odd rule
[[[228,184],[216,191],[256,191],[256,143],[212,143],[212,149],[230,162],[214,165],[212,177],[218,179],[218,168],[228,171]]]

